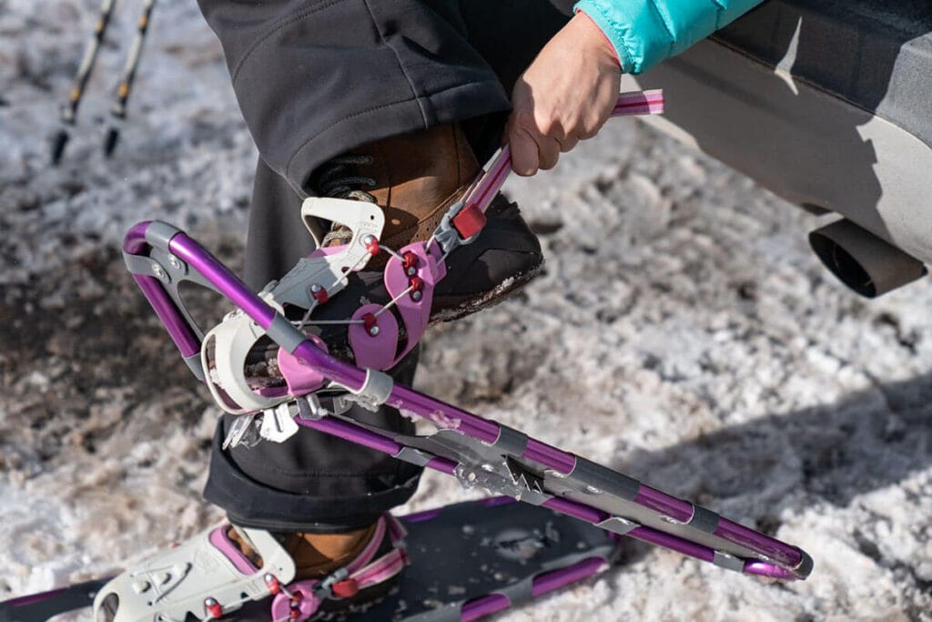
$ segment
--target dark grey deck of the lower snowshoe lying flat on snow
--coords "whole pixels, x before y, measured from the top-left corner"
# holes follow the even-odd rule
[[[347,622],[474,620],[517,606],[607,567],[617,550],[608,533],[507,497],[491,497],[402,518],[410,565],[391,593]],[[106,580],[0,603],[0,622],[41,622],[89,607]],[[269,601],[224,616],[268,622]]]

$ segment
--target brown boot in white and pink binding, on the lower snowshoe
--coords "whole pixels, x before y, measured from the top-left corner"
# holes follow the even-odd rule
[[[404,536],[388,514],[364,529],[325,534],[222,525],[110,579],[94,598],[94,619],[226,619],[235,611],[238,619],[269,619],[269,605],[275,620],[363,611],[404,572]]]

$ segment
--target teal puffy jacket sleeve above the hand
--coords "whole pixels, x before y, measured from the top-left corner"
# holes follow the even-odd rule
[[[692,46],[744,15],[761,0],[581,0],[583,11],[609,38],[629,74]]]

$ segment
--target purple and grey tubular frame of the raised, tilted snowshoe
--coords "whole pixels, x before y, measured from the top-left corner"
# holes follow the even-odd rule
[[[658,91],[628,93],[619,100],[615,116],[653,114],[662,107]],[[485,211],[510,169],[504,147],[469,202]],[[342,399],[370,407],[386,404],[406,416],[426,419],[439,430],[429,436],[395,435],[345,418],[340,408],[322,408],[317,392],[289,395],[288,401],[267,410],[269,416],[276,410],[298,425],[458,477],[466,487],[480,486],[541,505],[728,570],[782,580],[804,579],[812,571],[812,559],[796,546],[323,352],[198,242],[171,225],[139,223],[127,234],[123,252],[136,283],[199,380],[206,378],[200,356],[203,333],[178,292],[184,281],[228,298],[282,350],[326,379],[325,389],[338,389],[342,397],[337,403]]]

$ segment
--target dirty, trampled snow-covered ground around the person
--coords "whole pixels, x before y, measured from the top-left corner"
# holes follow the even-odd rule
[[[160,218],[238,265],[254,147],[195,3],[165,0],[117,157],[100,151],[108,43],[49,168],[96,10],[0,3],[0,599],[222,518],[199,501],[217,411],[117,249]],[[501,619],[932,620],[928,283],[855,297],[808,250],[821,220],[630,119],[508,190],[547,272],[433,329],[418,387],[798,544],[816,570],[767,584],[630,546]],[[404,509],[463,497],[429,474]]]

